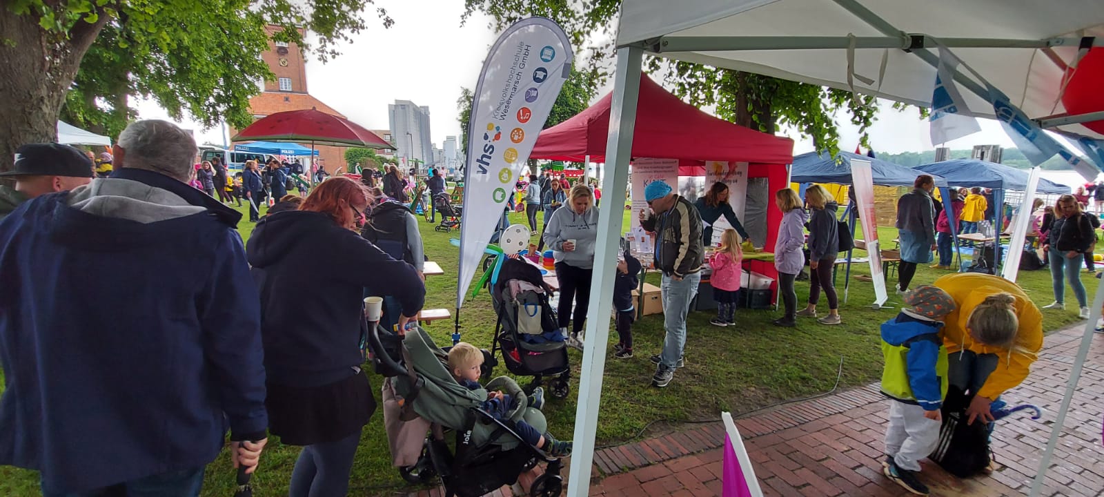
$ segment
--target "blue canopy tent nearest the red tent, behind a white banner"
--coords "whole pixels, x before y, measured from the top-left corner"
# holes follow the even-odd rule
[[[882,187],[912,187],[916,181],[916,176],[919,176],[915,169],[860,154],[839,151],[834,157],[828,152],[808,152],[794,157],[789,181],[802,184],[803,197],[806,183],[851,184],[851,160],[869,161],[873,183]],[[932,175],[932,177],[935,179],[936,187],[947,187],[947,181],[942,177],[936,175]],[[943,198],[947,199],[948,197],[944,194]],[[857,213],[856,207],[848,204],[848,209],[840,216],[841,219],[847,219],[852,239],[854,239]],[[853,258],[853,248],[847,253],[847,271],[843,274],[845,303],[847,302],[851,286],[851,260]]]

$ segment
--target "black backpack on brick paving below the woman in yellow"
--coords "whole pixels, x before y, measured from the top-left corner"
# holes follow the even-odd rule
[[[966,408],[973,396],[955,385],[948,388],[943,402],[940,443],[928,455],[947,473],[959,478],[968,478],[984,470],[989,465],[991,455],[987,423],[978,420],[974,420],[974,424],[966,423]]]

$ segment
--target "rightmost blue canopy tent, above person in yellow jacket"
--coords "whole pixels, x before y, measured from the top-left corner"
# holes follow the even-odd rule
[[[933,176],[940,175],[946,178],[947,184],[954,188],[978,187],[992,189],[992,202],[996,205],[1005,204],[1005,190],[1025,191],[1028,188],[1029,175],[1023,169],[1017,169],[1011,166],[978,159],[944,160],[942,162],[920,165],[914,169]],[[1070,187],[1055,183],[1048,179],[1039,178],[1039,184],[1036,187],[1036,191],[1041,193],[1069,193]],[[943,198],[948,199],[949,195],[944,194]],[[1023,204],[1027,204],[1028,209],[1031,208],[1029,202],[1023,202]],[[995,272],[998,271],[1002,260],[1000,256],[1000,226],[1004,225],[1004,209],[994,209],[994,213],[996,214],[994,225],[997,226],[994,233],[995,260],[992,269]],[[952,230],[956,229],[956,226],[952,226]],[[999,274],[999,272],[997,274]]]

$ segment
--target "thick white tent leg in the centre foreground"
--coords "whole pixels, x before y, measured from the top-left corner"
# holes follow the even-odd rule
[[[644,51],[636,46],[617,50],[617,72],[614,80],[613,105],[609,114],[609,137],[606,142],[606,163],[612,166],[602,183],[607,205],[625,204],[625,186],[628,184],[628,161],[633,149],[636,126],[636,106],[640,92],[640,61]],[[612,173],[609,173],[612,172]],[[614,290],[614,273],[620,245],[622,209],[602,209],[598,215],[598,236],[595,246],[594,276],[591,279],[591,316],[586,320],[586,346],[583,350],[580,378],[578,406],[575,410],[574,454],[567,482],[569,497],[587,497],[591,491],[591,465],[594,463],[594,436],[598,425],[598,405],[602,399],[602,377],[606,367],[606,345],[609,337],[609,313]],[[646,388],[646,385],[640,385]]]

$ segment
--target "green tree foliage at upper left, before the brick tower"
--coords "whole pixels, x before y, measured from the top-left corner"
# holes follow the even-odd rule
[[[257,81],[273,74],[261,60],[268,50],[266,24],[274,38],[298,44],[326,61],[367,29],[362,17],[372,0],[15,0],[7,6],[43,30],[54,33],[49,52],[66,53],[82,25],[98,32],[85,59],[72,61],[79,71],[65,96],[62,118],[112,136],[136,115],[130,97],[151,98],[174,119],[187,113],[204,126],[226,120],[235,127],[252,123],[248,98]],[[376,9],[384,27],[393,21]],[[299,29],[306,29],[311,45]],[[315,40],[317,40],[315,42]],[[20,47],[29,50],[30,47]],[[85,63],[86,62],[86,63]],[[3,77],[3,76],[0,76]],[[0,87],[3,87],[0,84]]]

